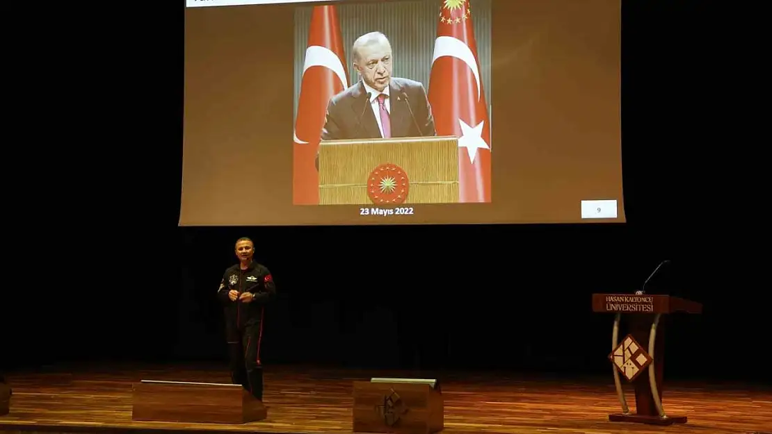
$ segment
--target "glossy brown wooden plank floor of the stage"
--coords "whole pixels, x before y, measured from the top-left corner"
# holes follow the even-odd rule
[[[405,372],[267,368],[268,419],[223,426],[131,420],[133,382],[229,382],[222,368],[11,373],[11,409],[8,415],[0,416],[0,432],[351,432],[352,382],[383,376],[415,377]],[[670,385],[665,391],[665,411],[687,415],[689,422],[682,426],[645,426],[608,422],[608,413],[619,411],[611,368],[608,381],[500,378],[493,374],[445,374],[441,381],[446,434],[772,431],[772,392],[759,387]],[[635,398],[629,388],[627,399],[634,407]]]

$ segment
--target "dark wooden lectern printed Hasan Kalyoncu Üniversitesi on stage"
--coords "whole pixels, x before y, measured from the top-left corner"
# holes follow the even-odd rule
[[[608,420],[664,426],[686,423],[685,415],[667,415],[662,407],[665,334],[661,320],[662,315],[678,312],[701,314],[703,305],[669,295],[592,294],[592,310],[615,314],[608,358],[614,365],[622,412],[609,415]],[[619,342],[621,315],[628,318],[631,332]],[[635,387],[635,413],[628,408],[620,374]]]

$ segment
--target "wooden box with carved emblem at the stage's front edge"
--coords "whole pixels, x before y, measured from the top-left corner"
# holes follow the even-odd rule
[[[444,427],[444,404],[431,379],[354,382],[354,432],[432,434]]]

